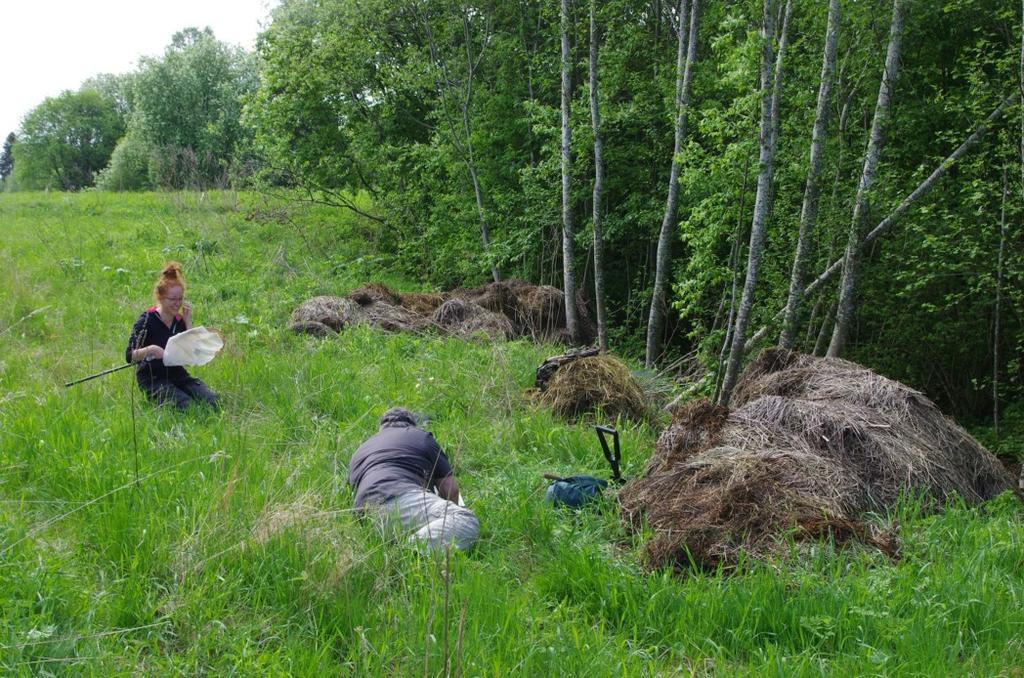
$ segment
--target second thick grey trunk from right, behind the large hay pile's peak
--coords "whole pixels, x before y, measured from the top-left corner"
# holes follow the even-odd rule
[[[829,0],[828,28],[825,31],[824,57],[821,63],[821,80],[818,87],[818,105],[814,114],[814,129],[811,132],[811,157],[807,169],[807,183],[804,186],[804,204],[800,209],[800,236],[797,240],[797,254],[793,260],[790,278],[790,298],[785,305],[782,334],[778,344],[782,348],[793,348],[797,326],[804,300],[804,278],[807,257],[811,246],[811,231],[818,217],[818,197],[820,195],[821,159],[824,153],[825,134],[828,126],[828,98],[831,91],[833,73],[836,70],[836,46],[839,43],[839,0]]]

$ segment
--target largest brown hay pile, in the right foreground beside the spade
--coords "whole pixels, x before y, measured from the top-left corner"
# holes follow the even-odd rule
[[[624,522],[653,528],[648,565],[731,565],[795,539],[867,541],[862,522],[903,493],[938,508],[1011,489],[999,462],[920,392],[847,361],[768,349],[734,410],[700,400],[676,413],[642,477],[618,496]]]

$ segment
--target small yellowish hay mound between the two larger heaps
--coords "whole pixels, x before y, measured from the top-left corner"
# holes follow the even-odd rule
[[[647,401],[629,369],[610,355],[580,357],[560,366],[537,400],[564,419],[600,412],[608,419],[642,421]]]

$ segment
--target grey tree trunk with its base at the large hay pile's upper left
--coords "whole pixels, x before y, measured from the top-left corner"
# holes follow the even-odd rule
[[[788,15],[788,3],[786,14]],[[783,23],[784,26],[784,23]],[[764,17],[761,33],[761,150],[758,160],[758,189],[754,199],[754,219],[751,222],[751,244],[746,256],[746,280],[743,283],[743,295],[736,312],[736,324],[732,331],[732,346],[729,351],[729,362],[725,369],[725,379],[719,405],[729,405],[732,389],[739,375],[739,365],[743,357],[743,340],[746,326],[750,324],[751,312],[754,309],[754,291],[758,284],[758,273],[761,269],[761,256],[764,252],[765,231],[771,202],[771,182],[775,163],[775,121],[772,114],[777,110],[775,86],[780,82],[772,77],[773,49],[775,28],[772,16],[772,0],[764,2]],[[785,34],[779,38],[779,51],[785,46]],[[781,67],[781,60],[775,65],[776,71]]]

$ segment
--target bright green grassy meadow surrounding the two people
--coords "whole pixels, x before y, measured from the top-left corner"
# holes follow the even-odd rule
[[[287,330],[389,272],[344,215],[255,196],[0,195],[0,673],[1024,675],[1024,511],[897,514],[902,558],[827,544],[730,576],[644,574],[586,426],[524,391],[553,347]],[[226,347],[220,413],[140,401],[119,365],[161,264]],[[350,511],[346,463],[389,406],[430,413],[476,550],[424,555]],[[656,426],[624,425],[625,474]]]

